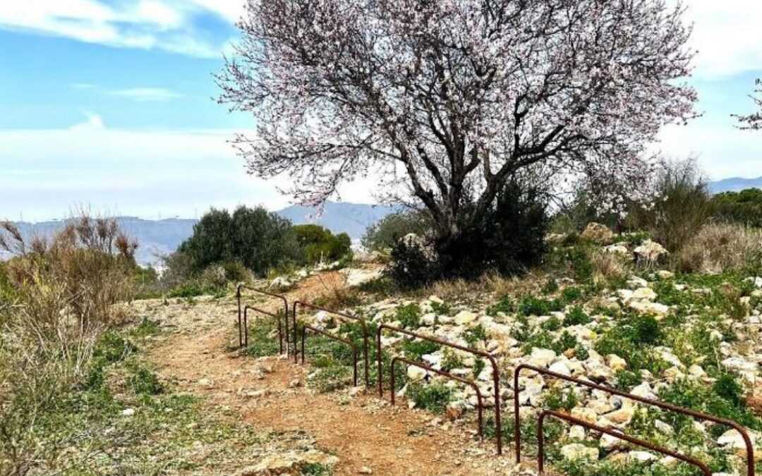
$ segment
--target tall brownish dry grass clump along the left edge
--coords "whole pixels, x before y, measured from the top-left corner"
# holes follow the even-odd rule
[[[27,242],[0,223],[0,474],[54,465],[72,444],[56,431],[66,395],[84,385],[95,342],[129,299],[137,245],[113,219],[72,219]]]

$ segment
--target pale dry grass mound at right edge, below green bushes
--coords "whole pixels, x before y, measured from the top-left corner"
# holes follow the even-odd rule
[[[678,270],[685,273],[722,273],[759,266],[762,231],[743,225],[706,225],[677,254]]]

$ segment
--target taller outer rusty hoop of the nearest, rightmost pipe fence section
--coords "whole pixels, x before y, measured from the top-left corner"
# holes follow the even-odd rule
[[[594,388],[595,390],[605,391],[611,395],[618,395],[623,398],[629,398],[634,401],[639,401],[643,404],[659,407],[664,410],[674,411],[675,413],[684,414],[689,417],[698,418],[700,420],[711,421],[712,423],[719,423],[721,425],[730,426],[731,428],[741,433],[741,437],[744,439],[746,445],[746,463],[747,463],[747,476],[754,476],[754,445],[751,442],[748,431],[733,420],[726,418],[715,417],[714,415],[705,414],[700,411],[691,410],[690,408],[678,407],[677,405],[669,404],[665,401],[655,400],[653,398],[640,397],[639,395],[632,395],[625,391],[616,390],[616,388],[610,388],[605,385],[599,385],[594,382],[588,382],[582,379],[576,379],[568,375],[562,375],[558,372],[552,372],[548,369],[541,367],[530,366],[529,364],[521,364],[514,370],[514,426],[515,426],[515,444],[516,444],[516,462],[521,462],[521,431],[520,431],[520,416],[519,416],[519,375],[522,370],[533,370],[542,375],[549,375],[556,379],[565,380],[566,382],[572,382],[577,385],[584,385],[588,388]]]

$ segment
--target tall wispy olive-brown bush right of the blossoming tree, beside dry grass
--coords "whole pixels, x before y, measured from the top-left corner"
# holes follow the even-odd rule
[[[653,203],[632,203],[626,225],[678,251],[712,216],[706,177],[693,159],[665,162],[655,188]]]

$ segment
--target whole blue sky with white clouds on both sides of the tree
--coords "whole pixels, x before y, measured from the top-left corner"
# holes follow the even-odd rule
[[[762,176],[762,133],[733,128],[762,76],[762,2],[687,0],[704,116],[654,145],[712,178]],[[213,101],[243,0],[0,2],[0,219],[78,207],[157,218],[286,206],[227,144],[251,127]],[[341,198],[370,202],[368,184]]]

